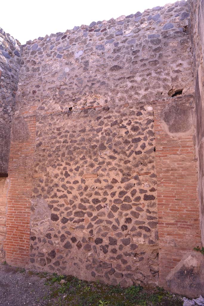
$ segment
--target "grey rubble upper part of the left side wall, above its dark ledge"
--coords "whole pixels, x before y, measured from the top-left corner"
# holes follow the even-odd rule
[[[0,28],[0,173],[7,173],[11,121],[20,69],[20,43]]]

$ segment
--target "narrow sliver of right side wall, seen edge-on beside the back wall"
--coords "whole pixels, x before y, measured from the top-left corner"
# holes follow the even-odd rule
[[[194,59],[195,105],[199,155],[199,200],[202,244],[204,245],[204,1],[190,0],[191,43]]]

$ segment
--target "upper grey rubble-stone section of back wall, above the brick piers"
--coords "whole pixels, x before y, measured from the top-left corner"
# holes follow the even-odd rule
[[[188,17],[181,1],[28,41],[16,115],[192,93]]]

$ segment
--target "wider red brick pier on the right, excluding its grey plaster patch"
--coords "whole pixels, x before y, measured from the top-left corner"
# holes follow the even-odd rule
[[[154,107],[159,285],[167,288],[166,277],[186,252],[200,245],[199,200],[197,193],[197,159],[195,135],[179,133],[170,136],[164,127],[162,113],[173,100],[157,101]],[[179,100],[182,102],[182,100]],[[188,101],[187,101],[188,105]],[[177,116],[177,114],[176,114]]]

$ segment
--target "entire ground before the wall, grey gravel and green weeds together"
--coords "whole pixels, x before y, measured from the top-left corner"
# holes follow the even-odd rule
[[[0,306],[182,306],[182,297],[160,287],[129,288],[37,273],[0,263]]]

